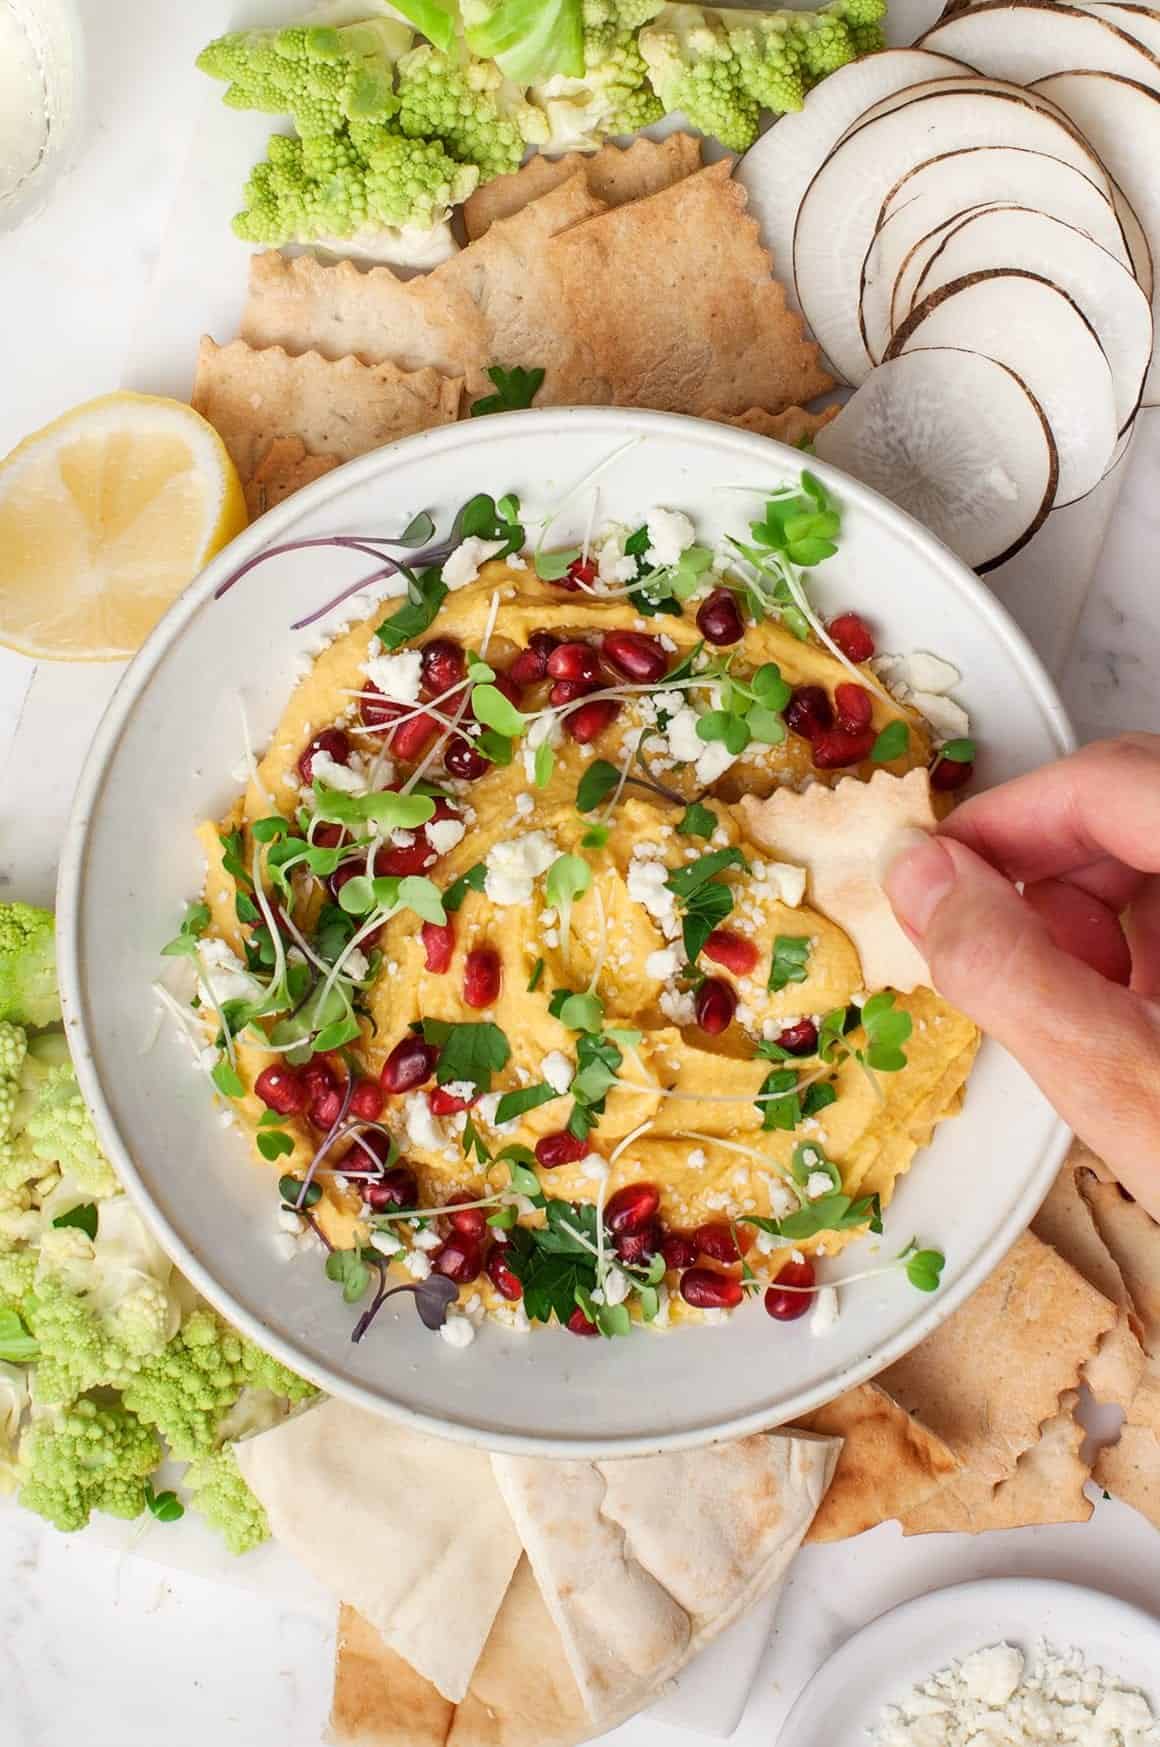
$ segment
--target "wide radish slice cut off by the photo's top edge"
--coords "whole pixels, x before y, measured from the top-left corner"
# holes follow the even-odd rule
[[[989,0],[935,24],[921,47],[1024,86],[1083,66],[1160,89],[1160,61],[1141,42],[1108,19],[1055,0]]]

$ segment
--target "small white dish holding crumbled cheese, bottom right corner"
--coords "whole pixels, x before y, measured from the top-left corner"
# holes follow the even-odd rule
[[[984,1578],[931,1590],[879,1614],[802,1688],[777,1737],[784,1747],[870,1747],[882,1709],[991,1644],[1031,1654],[1071,1649],[1160,1717],[1160,1619],[1102,1590],[1043,1578]]]

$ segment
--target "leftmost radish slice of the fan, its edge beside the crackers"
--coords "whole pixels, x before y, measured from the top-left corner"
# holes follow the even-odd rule
[[[749,196],[749,211],[760,225],[762,241],[774,257],[774,273],[793,309],[800,309],[793,290],[793,220],[835,140],[865,108],[891,91],[903,91],[921,79],[961,72],[968,68],[945,54],[926,54],[922,49],[886,49],[863,61],[851,61],[814,86],[805,108],[797,115],[783,115],[741,159],[737,182]]]

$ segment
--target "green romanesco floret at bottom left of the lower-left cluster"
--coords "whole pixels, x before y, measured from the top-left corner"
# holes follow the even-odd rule
[[[65,1532],[84,1529],[93,1511],[140,1516],[145,1481],[161,1462],[148,1426],[117,1406],[75,1401],[33,1419],[19,1448],[19,1501]]]

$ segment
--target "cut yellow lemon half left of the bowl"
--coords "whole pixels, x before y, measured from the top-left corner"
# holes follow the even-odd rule
[[[38,660],[133,655],[246,526],[225,444],[155,395],[103,395],[0,461],[0,643]]]

